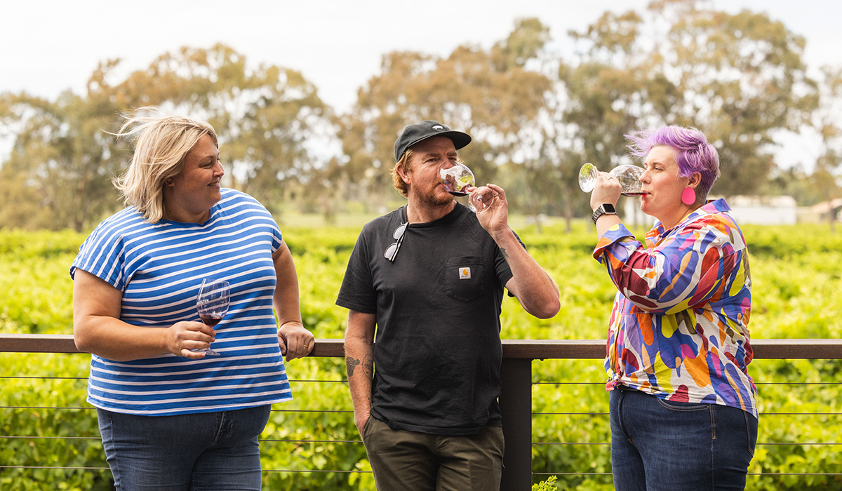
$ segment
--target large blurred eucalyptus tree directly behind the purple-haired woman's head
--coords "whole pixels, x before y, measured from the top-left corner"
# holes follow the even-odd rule
[[[625,158],[624,133],[693,125],[720,154],[714,193],[763,188],[775,135],[798,131],[817,105],[802,61],[804,40],[765,13],[705,5],[653,2],[647,13],[605,13],[571,33],[584,46],[560,70],[573,155],[607,170]]]

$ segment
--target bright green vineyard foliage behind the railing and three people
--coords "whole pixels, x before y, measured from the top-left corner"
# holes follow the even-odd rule
[[[593,228],[575,225],[570,233],[562,226],[545,226],[540,234],[531,227],[518,231],[557,281],[562,309],[555,318],[539,320],[507,298],[504,339],[605,336],[615,289],[590,258]],[[306,327],[317,338],[341,338],[347,311],[334,301],[359,229],[284,232],[296,257]],[[744,232],[754,280],[753,338],[842,336],[842,237],[807,225],[744,227]],[[67,269],[84,237],[0,232],[0,333],[72,333]],[[0,353],[0,366],[0,437],[25,437],[3,438],[0,444],[0,488],[110,488],[96,413],[85,402],[88,356]],[[295,399],[274,406],[261,437],[265,488],[373,489],[370,473],[353,472],[370,466],[365,448],[354,441],[360,437],[343,360],[295,360],[287,371]],[[764,473],[749,475],[749,489],[842,487],[838,476],[822,475],[842,472],[842,452],[827,445],[842,432],[840,371],[837,360],[755,360],[749,366],[761,413],[749,472]],[[587,444],[533,446],[535,472],[581,472],[562,474],[542,488],[612,489],[610,475],[600,474],[610,472],[602,361],[536,360],[532,372],[532,440]],[[797,473],[810,475],[791,475]]]

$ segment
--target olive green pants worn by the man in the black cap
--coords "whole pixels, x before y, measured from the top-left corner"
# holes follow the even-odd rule
[[[499,491],[503,429],[477,435],[392,430],[370,417],[363,428],[377,491]]]

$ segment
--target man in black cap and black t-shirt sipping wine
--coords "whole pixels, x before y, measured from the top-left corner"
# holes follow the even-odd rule
[[[490,206],[474,214],[441,183],[470,142],[436,121],[404,129],[392,179],[408,204],[365,225],[339,291],[354,421],[380,491],[499,488],[504,288],[538,318],[559,309],[509,228],[504,190],[479,189]]]

